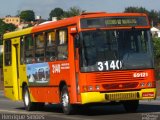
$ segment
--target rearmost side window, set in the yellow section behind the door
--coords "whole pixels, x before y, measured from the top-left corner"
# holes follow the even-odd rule
[[[4,42],[4,63],[5,66],[10,66],[12,57],[11,57],[11,40],[6,40]]]

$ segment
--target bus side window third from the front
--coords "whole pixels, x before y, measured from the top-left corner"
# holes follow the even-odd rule
[[[45,39],[44,34],[40,33],[38,35],[35,35],[35,41],[36,41],[36,51],[35,51],[35,58],[36,62],[44,62],[44,48],[45,48]]]

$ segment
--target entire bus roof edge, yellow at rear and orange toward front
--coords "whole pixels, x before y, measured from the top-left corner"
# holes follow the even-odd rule
[[[106,13],[106,12],[83,13],[80,16],[66,18],[66,19],[58,20],[58,21],[52,21],[52,22],[48,22],[46,24],[40,24],[37,26],[23,29],[23,30],[6,33],[6,34],[4,34],[3,39],[18,37],[18,36],[22,36],[22,35],[26,35],[26,34],[30,34],[30,33],[36,33],[36,32],[41,32],[41,31],[45,31],[45,30],[50,30],[50,29],[54,29],[54,28],[61,28],[64,26],[69,26],[69,25],[77,25],[77,27],[80,28],[79,22],[80,22],[80,19],[82,19],[82,18],[121,17],[121,16],[126,16],[126,17],[127,16],[144,16],[144,17],[147,17],[147,15],[144,13]]]

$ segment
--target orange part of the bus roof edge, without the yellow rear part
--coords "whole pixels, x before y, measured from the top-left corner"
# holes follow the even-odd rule
[[[49,22],[48,24],[42,24],[35,26],[32,32],[40,32],[43,30],[49,30],[54,28],[61,28],[68,25],[76,25],[81,18],[95,18],[95,17],[118,17],[118,16],[147,16],[144,13],[106,13],[106,12],[92,12],[92,13],[83,13],[80,16],[75,16],[71,18],[66,18],[59,21]],[[80,26],[77,27],[79,28]]]

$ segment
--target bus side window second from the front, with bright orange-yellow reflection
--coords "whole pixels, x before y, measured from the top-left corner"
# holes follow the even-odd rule
[[[56,60],[56,37],[55,31],[50,31],[46,33],[46,60],[47,61],[54,61]]]

